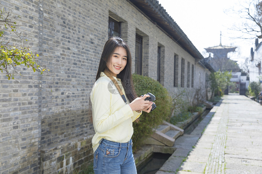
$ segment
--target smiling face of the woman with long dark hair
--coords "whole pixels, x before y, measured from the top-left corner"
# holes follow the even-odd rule
[[[123,47],[117,47],[112,54],[111,60],[107,67],[112,71],[113,76],[116,77],[126,66],[127,52]]]

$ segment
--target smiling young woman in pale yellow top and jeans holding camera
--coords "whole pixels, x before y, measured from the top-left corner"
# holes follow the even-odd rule
[[[144,100],[149,95],[137,97],[133,83],[128,83],[132,82],[131,62],[128,45],[119,37],[108,39],[90,94],[95,130],[92,139],[95,174],[136,173],[132,153],[132,122],[142,111],[149,113],[153,102]],[[117,85],[125,95],[126,102],[118,92]]]

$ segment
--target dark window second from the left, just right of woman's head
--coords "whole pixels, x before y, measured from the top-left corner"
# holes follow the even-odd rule
[[[136,34],[135,73],[142,75],[143,38]]]

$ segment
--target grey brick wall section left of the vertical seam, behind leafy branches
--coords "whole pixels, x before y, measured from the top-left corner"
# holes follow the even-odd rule
[[[28,43],[32,49],[38,47],[38,2],[0,1],[1,10],[13,9],[21,17],[19,25],[25,34],[30,34]],[[35,18],[35,16],[37,16]],[[3,28],[3,26],[1,26]],[[12,43],[19,42],[12,36]],[[18,67],[22,75],[39,80],[37,74]],[[39,84],[29,78],[15,76],[8,80],[0,73],[0,173],[35,173],[39,166]]]

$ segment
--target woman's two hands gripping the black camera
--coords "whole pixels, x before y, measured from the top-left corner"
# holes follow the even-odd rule
[[[145,98],[147,97],[150,97],[150,95],[144,95],[141,97],[137,97],[135,100],[129,103],[129,106],[131,107],[132,111],[141,111],[142,110],[142,111],[149,113],[152,108],[151,105],[154,102],[145,100]]]

